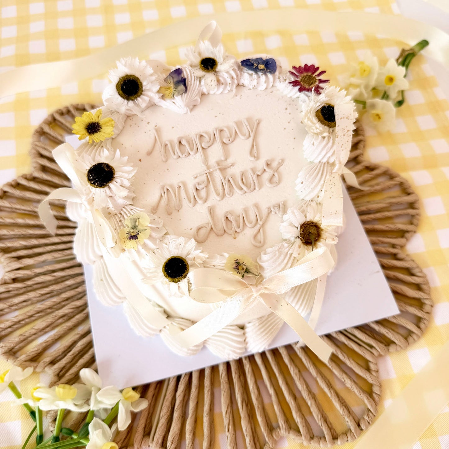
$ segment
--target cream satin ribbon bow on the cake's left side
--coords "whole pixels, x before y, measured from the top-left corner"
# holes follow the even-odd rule
[[[101,213],[99,209],[86,204],[78,193],[79,190],[83,189],[81,182],[75,169],[73,168],[73,162],[76,158],[75,150],[72,145],[64,143],[59,145],[53,150],[53,158],[59,167],[62,168],[63,172],[70,178],[75,189],[70,189],[69,187],[62,187],[61,189],[53,190],[47,198],[44,199],[39,205],[39,216],[45,227],[53,235],[56,234],[57,220],[53,216],[53,212],[50,207],[50,200],[52,199],[62,199],[65,201],[77,202],[84,204],[88,211],[91,213],[92,221],[94,223],[95,230],[100,238],[101,242],[106,248],[112,248],[117,243],[117,237],[108,222],[106,217]]]

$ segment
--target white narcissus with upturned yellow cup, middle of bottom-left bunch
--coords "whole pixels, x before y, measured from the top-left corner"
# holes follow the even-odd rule
[[[90,390],[81,383],[74,385],[61,383],[51,388],[40,387],[33,395],[36,398],[41,398],[39,408],[42,410],[68,409],[84,412],[89,409],[89,404],[86,401],[90,398]]]

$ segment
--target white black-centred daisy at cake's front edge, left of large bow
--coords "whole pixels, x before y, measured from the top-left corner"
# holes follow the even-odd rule
[[[203,266],[207,254],[197,247],[195,240],[167,236],[158,248],[148,255],[151,266],[145,270],[147,284],[162,282],[170,296],[188,296],[187,275],[191,269]]]

